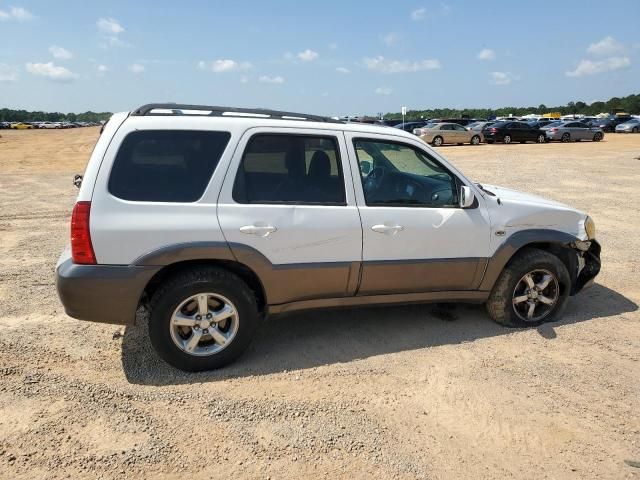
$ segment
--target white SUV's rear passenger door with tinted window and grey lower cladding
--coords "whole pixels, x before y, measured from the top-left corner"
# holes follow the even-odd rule
[[[341,132],[255,128],[241,138],[218,219],[269,304],[353,295],[362,228]]]

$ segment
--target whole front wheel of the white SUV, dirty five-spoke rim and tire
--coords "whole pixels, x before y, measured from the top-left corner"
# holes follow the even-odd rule
[[[564,310],[571,280],[562,261],[543,250],[527,249],[500,274],[487,310],[509,327],[537,326],[553,321]]]

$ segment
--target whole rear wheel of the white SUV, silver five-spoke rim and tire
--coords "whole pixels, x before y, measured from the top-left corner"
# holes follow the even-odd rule
[[[226,270],[201,267],[171,277],[151,300],[151,344],[187,371],[222,367],[239,357],[258,325],[253,291]]]

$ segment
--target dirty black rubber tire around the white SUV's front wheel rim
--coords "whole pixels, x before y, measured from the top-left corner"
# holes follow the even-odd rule
[[[535,270],[545,270],[555,276],[559,292],[549,312],[541,319],[530,321],[521,318],[516,313],[514,296],[516,295],[516,288],[523,277],[528,272]],[[515,258],[504,268],[493,286],[486,307],[489,316],[501,325],[518,328],[535,327],[544,322],[555,321],[562,315],[570,290],[571,279],[569,278],[569,272],[558,257],[544,250],[527,248],[518,252]]]

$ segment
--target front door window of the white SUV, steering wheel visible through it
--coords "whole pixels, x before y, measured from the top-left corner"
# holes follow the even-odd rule
[[[367,205],[458,206],[456,177],[423,151],[373,139],[354,140],[354,148]]]

